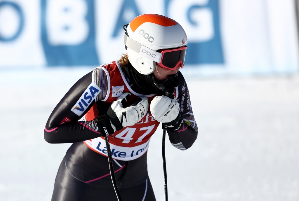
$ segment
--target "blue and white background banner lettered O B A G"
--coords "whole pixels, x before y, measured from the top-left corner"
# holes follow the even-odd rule
[[[144,13],[168,16],[182,25],[188,37],[185,64],[224,63],[218,0],[154,0],[141,7],[143,3],[1,1],[7,16],[0,19],[0,65],[97,66],[114,61],[115,50],[124,52],[123,25]],[[20,53],[25,56],[9,56]]]

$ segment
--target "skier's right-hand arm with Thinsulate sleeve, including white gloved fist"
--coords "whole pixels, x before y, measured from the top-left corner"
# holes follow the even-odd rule
[[[151,102],[150,110],[152,116],[165,126],[171,144],[185,150],[195,142],[198,130],[189,90],[181,73],[179,82],[176,101],[167,96],[156,96]]]

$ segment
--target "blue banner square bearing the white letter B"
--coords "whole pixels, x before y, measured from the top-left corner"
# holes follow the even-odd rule
[[[42,0],[41,32],[47,65],[99,65],[94,1],[68,2]]]

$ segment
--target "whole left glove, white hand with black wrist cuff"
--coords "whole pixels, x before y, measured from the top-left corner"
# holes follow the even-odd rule
[[[126,126],[134,125],[147,113],[147,97],[141,96],[137,102],[126,107],[130,96],[130,93],[122,94],[116,101],[112,102],[107,115],[102,115],[94,119],[98,130],[103,136],[113,134],[115,131],[119,131]]]

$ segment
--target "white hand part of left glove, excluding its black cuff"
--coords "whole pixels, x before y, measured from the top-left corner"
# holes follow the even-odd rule
[[[111,105],[112,110],[115,112],[123,127],[132,126],[139,122],[147,113],[149,108],[149,101],[147,97],[144,96],[140,96],[136,103],[126,107],[126,102],[130,96],[130,93],[124,93],[116,99],[116,101],[112,102]]]

